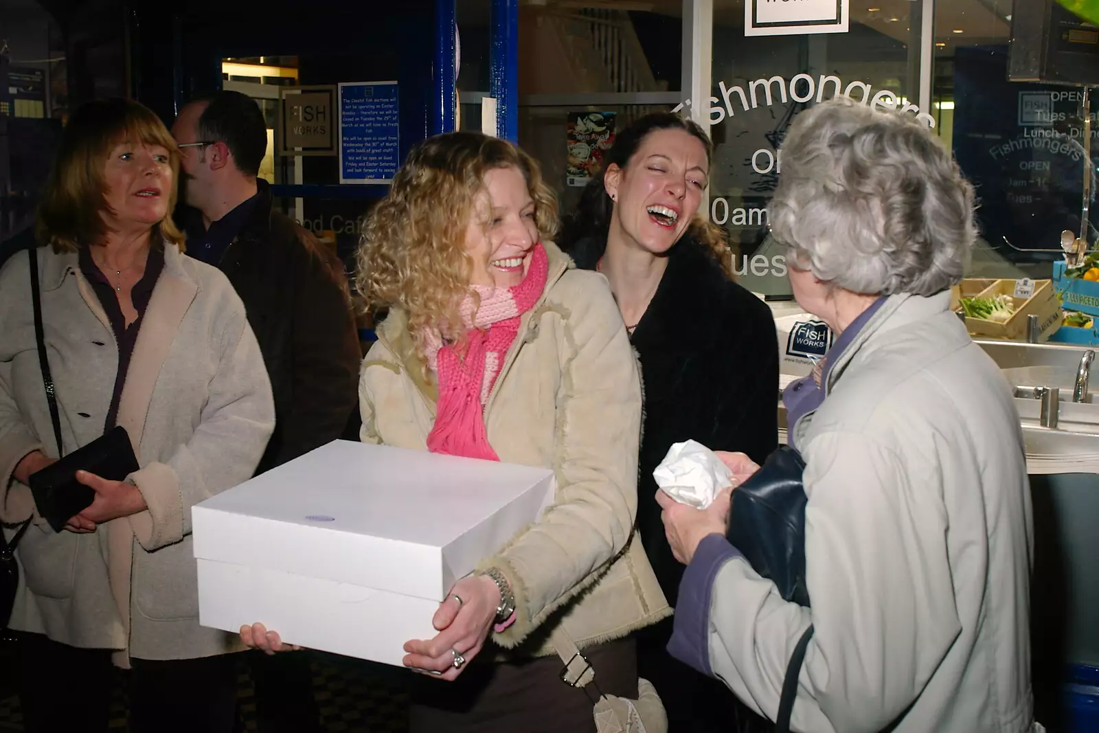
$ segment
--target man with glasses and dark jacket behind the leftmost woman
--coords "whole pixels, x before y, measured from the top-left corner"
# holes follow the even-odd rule
[[[219,91],[179,112],[187,254],[219,267],[244,301],[275,395],[275,434],[256,473],[342,436],[358,406],[362,353],[343,264],[271,206],[257,177],[267,125],[248,97]],[[308,490],[308,489],[303,489]],[[304,653],[251,653],[260,732],[320,730]]]

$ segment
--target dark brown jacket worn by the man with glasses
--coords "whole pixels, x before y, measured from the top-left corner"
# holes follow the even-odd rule
[[[258,184],[252,216],[219,264],[244,301],[275,395],[275,434],[257,474],[344,434],[362,360],[343,264]]]

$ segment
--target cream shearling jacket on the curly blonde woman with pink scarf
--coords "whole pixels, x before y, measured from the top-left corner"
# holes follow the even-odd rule
[[[542,519],[480,564],[503,570],[515,592],[517,620],[493,641],[529,655],[553,653],[557,624],[584,647],[671,613],[634,527],[636,359],[606,279],[544,246],[545,291],[523,314],[485,407],[502,462],[556,474],[556,499]],[[393,309],[363,364],[364,442],[426,449],[436,388],[423,374],[406,314]]]

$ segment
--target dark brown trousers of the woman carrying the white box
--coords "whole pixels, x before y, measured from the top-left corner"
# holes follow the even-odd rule
[[[518,664],[478,664],[478,657],[453,682],[418,677],[409,731],[595,733],[593,687],[636,698],[637,654],[633,638],[620,638],[588,647],[584,655],[596,670],[595,686],[584,690],[560,680],[563,665],[556,654]]]

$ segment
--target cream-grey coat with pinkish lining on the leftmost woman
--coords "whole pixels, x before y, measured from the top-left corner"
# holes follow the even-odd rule
[[[46,349],[62,438],[70,453],[99,437],[119,353],[75,253],[38,257]],[[11,626],[73,646],[178,659],[243,648],[199,626],[191,507],[247,480],[275,425],[259,346],[218,269],[165,245],[119,404],[141,469],[129,478],[148,509],[96,532],[55,533],[12,471],[27,453],[56,456],[31,309],[27,253],[0,270],[0,519],[33,517],[15,552]]]

